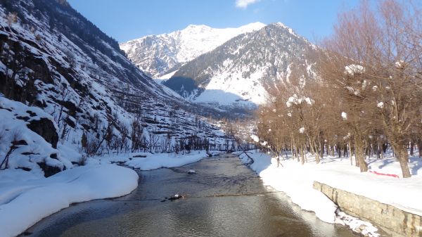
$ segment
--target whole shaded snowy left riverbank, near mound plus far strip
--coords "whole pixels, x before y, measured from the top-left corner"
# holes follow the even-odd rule
[[[0,172],[0,237],[16,236],[44,217],[72,203],[116,198],[131,193],[139,176],[128,167],[151,170],[179,167],[220,151],[191,153],[120,153],[87,158],[85,166],[45,178],[41,171],[6,169]],[[117,165],[112,165],[112,164]]]

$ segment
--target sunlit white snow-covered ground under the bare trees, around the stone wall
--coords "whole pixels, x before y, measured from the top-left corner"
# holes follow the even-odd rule
[[[381,203],[393,205],[399,209],[415,214],[422,214],[422,159],[412,157],[409,162],[412,177],[402,179],[399,162],[391,154],[385,155],[383,160],[369,158],[371,172],[359,172],[359,167],[350,165],[350,158],[337,158],[326,156],[320,164],[308,154],[308,162],[300,162],[288,155],[280,159],[281,165],[277,166],[276,158],[270,155],[252,151],[248,153],[255,162],[250,165],[260,175],[264,184],[272,186],[278,191],[283,191],[303,210],[313,211],[316,217],[329,223],[347,224],[351,229],[361,224],[366,225],[364,231],[372,236],[377,236],[376,228],[367,222],[362,222],[352,217],[345,217],[340,213],[340,219],[335,214],[337,206],[323,193],[314,190],[314,181],[319,181],[334,188],[366,196]],[[248,162],[248,157],[241,154],[243,162]],[[378,174],[376,174],[378,173]],[[392,174],[392,176],[383,175]],[[345,221],[345,219],[349,219]],[[362,232],[364,233],[364,232]],[[370,235],[370,236],[371,236]]]

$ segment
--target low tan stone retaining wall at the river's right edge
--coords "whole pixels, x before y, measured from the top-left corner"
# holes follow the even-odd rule
[[[343,212],[376,224],[392,236],[422,237],[422,217],[417,214],[317,181],[314,188],[333,200]]]

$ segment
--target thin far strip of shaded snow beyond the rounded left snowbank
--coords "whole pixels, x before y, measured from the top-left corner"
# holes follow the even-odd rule
[[[209,155],[224,153],[218,150],[192,150],[191,153],[121,153],[103,155],[92,158],[88,162],[122,162],[124,165],[141,170],[158,169],[161,167],[172,168],[197,162]]]

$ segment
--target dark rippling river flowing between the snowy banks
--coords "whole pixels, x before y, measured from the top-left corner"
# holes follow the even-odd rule
[[[187,174],[189,169],[197,173]],[[264,186],[234,155],[139,171],[139,177],[139,186],[131,194],[72,205],[32,226],[25,235],[354,236]],[[165,200],[174,194],[185,198]]]

